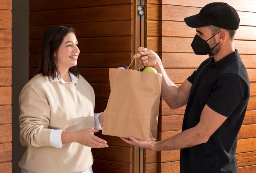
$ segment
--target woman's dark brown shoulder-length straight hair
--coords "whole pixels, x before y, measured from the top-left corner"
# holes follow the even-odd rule
[[[58,61],[54,57],[54,53],[57,54],[58,48],[63,42],[63,38],[68,33],[74,33],[74,28],[67,28],[65,26],[56,26],[48,29],[43,35],[42,46],[39,52],[40,64],[36,74],[42,73],[43,76],[52,76],[53,78],[58,77]],[[69,72],[79,77],[77,68],[69,68]]]

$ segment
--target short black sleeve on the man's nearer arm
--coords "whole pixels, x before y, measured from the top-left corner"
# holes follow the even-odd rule
[[[249,97],[249,87],[238,74],[225,74],[213,86],[207,105],[215,112],[228,117]]]

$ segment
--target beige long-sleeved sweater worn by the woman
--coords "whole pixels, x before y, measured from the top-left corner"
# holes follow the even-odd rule
[[[51,147],[52,129],[77,131],[94,127],[94,91],[79,75],[78,83],[51,82],[38,74],[20,93],[21,169],[33,173],[80,173],[93,163],[90,147],[73,142]]]

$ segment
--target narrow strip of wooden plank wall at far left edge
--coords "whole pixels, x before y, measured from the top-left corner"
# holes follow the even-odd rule
[[[0,0],[0,173],[11,173],[11,0]]]

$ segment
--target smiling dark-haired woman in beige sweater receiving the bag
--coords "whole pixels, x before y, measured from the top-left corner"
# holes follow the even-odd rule
[[[20,93],[22,173],[92,173],[92,148],[108,147],[93,132],[104,113],[94,115],[94,91],[79,75],[72,28],[56,26],[43,36],[40,66]]]

